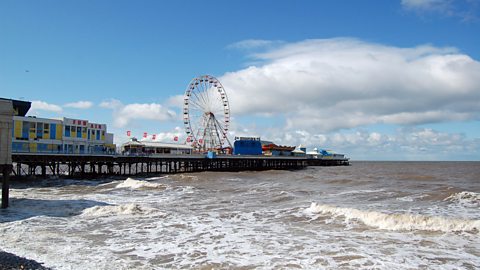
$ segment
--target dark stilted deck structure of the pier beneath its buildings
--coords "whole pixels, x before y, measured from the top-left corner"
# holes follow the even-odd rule
[[[348,159],[267,156],[206,158],[203,155],[122,156],[14,153],[12,161],[12,174],[15,178],[47,178],[50,176],[97,178],[202,171],[298,170],[307,166],[349,165]]]

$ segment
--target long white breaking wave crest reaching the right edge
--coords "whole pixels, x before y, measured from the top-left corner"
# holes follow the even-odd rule
[[[325,214],[334,217],[343,216],[346,221],[355,219],[367,226],[390,231],[480,232],[480,220],[413,214],[386,214],[317,203],[312,203],[305,211],[306,213]]]

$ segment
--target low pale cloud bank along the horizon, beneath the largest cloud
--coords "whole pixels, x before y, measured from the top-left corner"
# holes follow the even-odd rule
[[[430,128],[399,128],[388,134],[364,129],[330,133],[287,128],[250,131],[276,144],[333,150],[353,160],[478,160],[480,157],[480,139]]]

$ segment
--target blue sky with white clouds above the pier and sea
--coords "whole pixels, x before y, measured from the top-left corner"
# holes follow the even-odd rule
[[[480,160],[480,0],[1,0],[0,97],[186,139],[200,75],[228,136],[352,160]]]

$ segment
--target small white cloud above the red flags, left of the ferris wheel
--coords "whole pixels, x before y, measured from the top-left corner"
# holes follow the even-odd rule
[[[114,127],[126,127],[134,120],[170,121],[176,113],[157,103],[132,103],[124,105],[116,99],[100,103],[100,107],[113,110]]]

